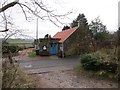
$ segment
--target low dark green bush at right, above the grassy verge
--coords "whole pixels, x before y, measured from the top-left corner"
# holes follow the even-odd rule
[[[85,54],[81,56],[81,64],[85,70],[100,71],[104,70],[110,73],[117,72],[117,63],[109,61],[101,61],[94,54]]]

